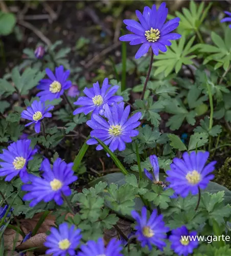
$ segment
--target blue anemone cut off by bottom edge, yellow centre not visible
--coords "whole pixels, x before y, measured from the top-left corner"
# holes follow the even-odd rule
[[[115,238],[111,239],[108,245],[104,246],[103,239],[97,242],[88,241],[86,245],[81,246],[81,252],[77,256],[123,256],[121,242]]]

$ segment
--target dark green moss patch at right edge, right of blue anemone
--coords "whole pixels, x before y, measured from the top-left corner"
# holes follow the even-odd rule
[[[215,172],[215,182],[231,189],[231,157],[227,157],[221,168]]]

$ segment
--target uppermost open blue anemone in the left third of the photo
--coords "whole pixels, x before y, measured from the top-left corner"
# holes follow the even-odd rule
[[[42,79],[37,88],[41,90],[36,96],[41,101],[60,98],[64,91],[72,86],[71,81],[66,79],[70,75],[70,70],[64,71],[63,66],[55,68],[55,75],[50,69],[45,69],[49,79]]]

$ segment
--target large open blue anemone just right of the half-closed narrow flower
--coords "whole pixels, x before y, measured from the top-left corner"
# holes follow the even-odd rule
[[[181,197],[187,197],[199,193],[200,189],[205,189],[210,180],[214,178],[211,174],[214,170],[216,161],[205,165],[209,158],[209,152],[183,153],[182,159],[174,158],[170,165],[171,169],[166,172],[169,187],[173,188],[176,194]]]

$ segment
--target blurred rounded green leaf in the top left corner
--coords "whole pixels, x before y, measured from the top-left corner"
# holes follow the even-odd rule
[[[0,36],[9,35],[15,26],[16,18],[13,13],[0,11]]]

